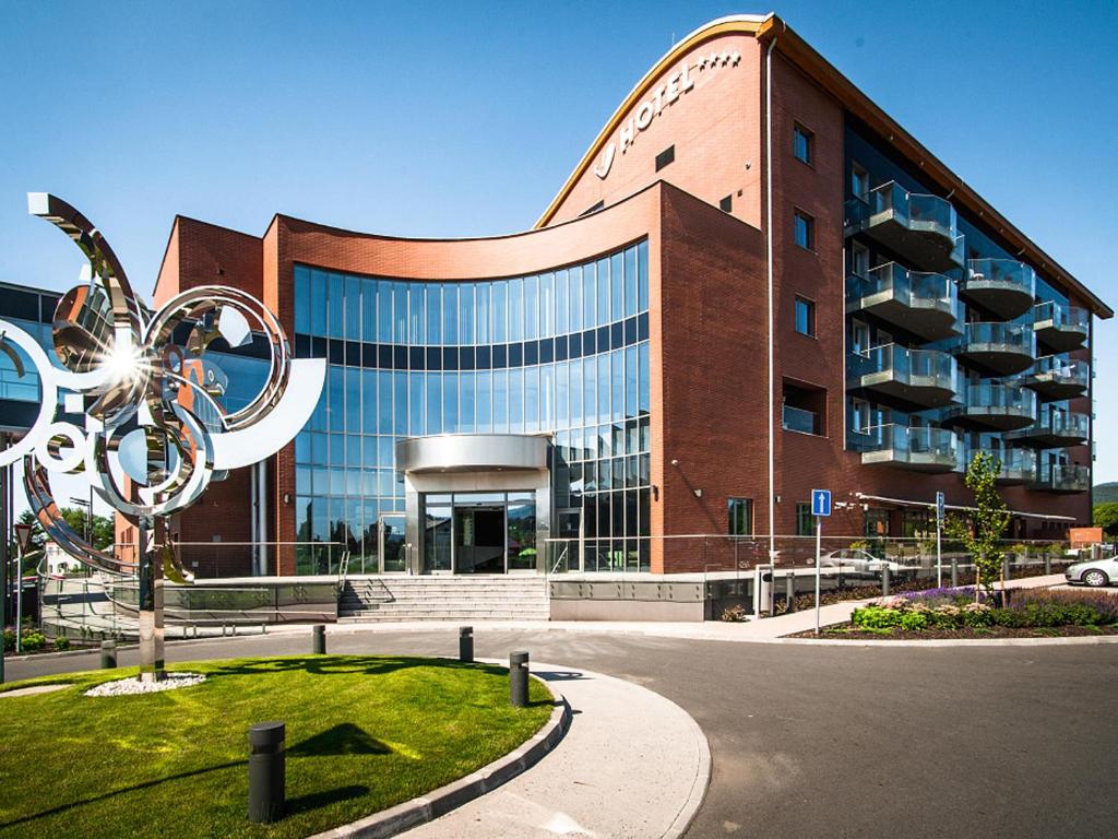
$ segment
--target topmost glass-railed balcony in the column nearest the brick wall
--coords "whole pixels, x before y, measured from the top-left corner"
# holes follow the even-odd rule
[[[897,181],[870,190],[845,206],[845,234],[864,233],[907,262],[927,271],[964,263],[955,207],[945,198],[909,192]]]

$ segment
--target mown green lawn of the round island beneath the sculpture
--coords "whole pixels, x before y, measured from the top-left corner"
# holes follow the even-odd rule
[[[0,837],[305,837],[429,792],[512,751],[551,713],[509,705],[505,670],[418,658],[320,656],[176,664],[203,685],[82,696],[135,669],[0,699]],[[248,822],[254,723],[287,725],[287,816]]]

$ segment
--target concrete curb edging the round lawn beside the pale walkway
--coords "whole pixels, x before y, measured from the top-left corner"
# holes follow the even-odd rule
[[[537,681],[547,685],[538,676]],[[439,786],[426,795],[381,810],[358,821],[331,828],[307,839],[386,839],[405,830],[437,819],[451,810],[472,801],[534,766],[551,752],[570,727],[570,705],[562,694],[547,686],[555,697],[551,717],[528,741],[503,757],[499,757],[476,772]]]

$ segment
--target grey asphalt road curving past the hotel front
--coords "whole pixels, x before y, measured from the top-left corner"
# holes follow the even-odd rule
[[[329,630],[328,630],[329,632]],[[688,836],[1110,836],[1118,644],[793,647],[475,628],[480,657],[629,679],[685,708],[713,776]],[[307,651],[309,635],[168,647],[186,661]],[[457,632],[354,633],[331,652],[457,654]],[[131,663],[134,653],[122,653]],[[9,662],[8,678],[96,666]]]

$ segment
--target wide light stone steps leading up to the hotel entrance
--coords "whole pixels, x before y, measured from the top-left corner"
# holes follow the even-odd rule
[[[350,576],[338,597],[340,622],[546,621],[542,574]]]

